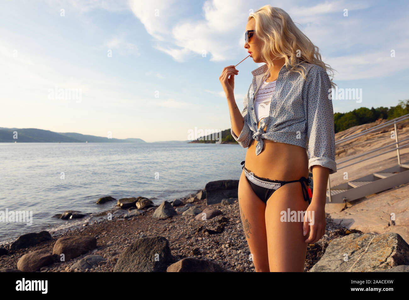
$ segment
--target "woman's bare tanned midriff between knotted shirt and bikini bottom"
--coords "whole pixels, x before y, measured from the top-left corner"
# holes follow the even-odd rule
[[[260,127],[260,121],[257,128]],[[264,128],[266,131],[267,126]],[[303,147],[263,139],[263,150],[256,155],[256,140],[252,140],[245,158],[245,167],[258,177],[271,180],[308,178],[308,156]]]

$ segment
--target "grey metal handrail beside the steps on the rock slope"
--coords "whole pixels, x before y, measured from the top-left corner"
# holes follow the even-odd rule
[[[337,142],[335,142],[335,144],[340,144],[340,143],[342,143],[342,142],[346,142],[346,141],[351,140],[351,139],[353,139],[353,138],[357,138],[357,137],[359,137],[359,136],[366,135],[366,133],[370,133],[370,132],[372,132],[372,131],[381,129],[381,128],[383,128],[383,127],[387,127],[387,126],[389,126],[389,125],[391,125],[391,124],[393,124],[394,129],[395,129],[394,131],[395,131],[395,141],[396,141],[396,142],[394,142],[394,143],[392,143],[392,144],[389,144],[389,145],[386,145],[386,146],[383,146],[383,147],[376,148],[376,149],[374,149],[374,150],[371,150],[371,151],[368,151],[368,152],[365,152],[365,153],[362,153],[362,154],[360,154],[360,155],[358,155],[358,156],[355,156],[355,157],[353,157],[353,158],[348,158],[347,160],[344,160],[344,161],[342,161],[342,162],[337,163],[337,165],[338,165],[338,164],[342,164],[342,163],[344,163],[344,162],[348,162],[348,161],[353,160],[353,159],[355,159],[355,158],[359,158],[359,157],[361,157],[361,156],[365,156],[365,155],[367,155],[367,154],[369,154],[369,153],[373,153],[373,152],[375,152],[375,151],[378,151],[378,150],[381,150],[381,149],[384,149],[384,148],[387,148],[387,147],[391,147],[391,146],[393,146],[393,145],[396,145],[396,153],[397,153],[397,157],[398,157],[398,164],[400,164],[399,149],[402,148],[402,147],[408,146],[409,143],[404,144],[404,145],[402,145],[402,146],[399,146],[399,141],[398,141],[398,129],[397,129],[397,127],[396,127],[396,123],[398,123],[398,122],[400,122],[400,121],[403,121],[403,120],[406,120],[406,119],[408,119],[408,118],[409,118],[409,113],[406,114],[406,115],[404,115],[404,116],[400,116],[400,117],[398,117],[398,118],[389,120],[389,121],[387,121],[387,122],[385,122],[385,123],[378,124],[378,125],[376,125],[376,126],[374,126],[374,127],[365,129],[364,131],[362,131],[362,132],[360,132],[360,133],[355,133],[355,134],[353,134],[352,136],[347,136],[347,137],[345,137],[345,138],[342,138],[342,139],[338,140]],[[404,141],[406,141],[406,140],[409,140],[409,138],[406,138],[405,140],[402,140],[402,141],[400,141],[400,142],[404,142]],[[349,167],[349,166],[351,166],[351,165],[353,165],[353,164],[356,164],[356,163],[358,163],[358,162],[363,162],[364,160],[368,160],[368,159],[370,159],[370,158],[374,158],[374,157],[380,156],[380,155],[382,155],[382,154],[391,152],[391,151],[393,151],[393,150],[395,150],[395,149],[391,149],[391,150],[388,150],[388,151],[384,151],[384,152],[378,153],[378,154],[376,154],[376,155],[374,155],[374,156],[371,156],[371,157],[368,157],[368,158],[364,158],[364,159],[362,159],[362,160],[358,160],[358,161],[353,162],[352,164],[348,164],[348,165],[346,165],[346,166],[344,166],[344,167],[340,167],[340,168],[337,167],[337,171],[338,171],[339,169],[342,169],[342,168],[345,168],[345,167]],[[328,186],[327,186],[327,188],[328,188],[328,190],[329,190],[329,202],[331,202],[330,176],[328,176]]]

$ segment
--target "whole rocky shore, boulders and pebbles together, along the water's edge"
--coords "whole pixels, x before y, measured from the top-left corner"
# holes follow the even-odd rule
[[[31,233],[11,245],[1,245],[0,271],[254,272],[239,215],[237,185],[238,180],[209,182],[196,194],[159,206],[144,197],[120,199],[102,214],[103,220],[54,236],[47,231]],[[116,200],[108,197],[106,201]],[[80,215],[68,211],[60,217]],[[398,265],[407,271],[408,244],[397,234],[373,236],[376,242],[368,234],[335,224],[327,214],[326,234],[308,245],[304,271],[379,271]],[[336,247],[330,249],[331,244]],[[369,245],[378,247],[377,255],[385,257],[368,262],[364,254],[370,252]],[[344,253],[349,261],[343,259]]]

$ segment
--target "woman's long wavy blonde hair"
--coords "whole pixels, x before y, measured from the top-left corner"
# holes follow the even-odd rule
[[[319,49],[311,40],[294,24],[288,13],[279,7],[265,5],[255,13],[251,13],[247,21],[254,18],[257,38],[262,40],[261,59],[270,66],[265,76],[272,69],[274,58],[285,58],[285,67],[289,71],[298,72],[306,79],[300,62],[308,62],[329,70],[334,77],[334,69],[321,60]],[[305,68],[304,68],[305,69]],[[306,69],[305,69],[306,70]],[[306,70],[307,71],[307,70]],[[331,79],[331,86],[335,83]]]

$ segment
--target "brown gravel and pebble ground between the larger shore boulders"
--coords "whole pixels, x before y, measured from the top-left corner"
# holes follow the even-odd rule
[[[194,194],[179,198],[182,205],[178,207],[185,205],[192,195]],[[52,252],[58,238],[65,236],[94,236],[97,239],[96,249],[65,262],[55,261],[49,266],[42,267],[40,271],[112,272],[119,256],[130,244],[139,238],[163,236],[169,241],[169,247],[175,262],[182,258],[196,258],[209,260],[229,271],[254,272],[254,264],[249,261],[250,251],[239,215],[238,200],[237,198],[231,199],[235,199],[231,204],[207,205],[206,199],[198,200],[195,198],[192,204],[200,211],[218,209],[222,212],[222,214],[205,221],[196,220],[195,216],[182,215],[182,213],[163,220],[153,218],[152,215],[157,206],[146,209],[140,216],[123,218],[119,214],[113,214],[112,220],[105,218],[78,228],[74,226],[74,228],[52,234],[51,240],[40,242],[25,249],[9,251],[7,255],[0,256],[0,269],[10,268],[16,270],[20,257],[32,251],[47,249]],[[119,209],[114,206],[108,211],[117,211]],[[120,210],[124,213],[128,212],[126,209]],[[311,269],[321,258],[330,240],[349,233],[360,232],[348,230],[344,226],[335,224],[329,214],[326,215],[326,234],[315,244],[308,244],[304,271]],[[9,248],[6,249],[9,250]],[[89,254],[100,255],[106,260],[99,262],[98,265],[90,269],[70,269],[74,263]]]

